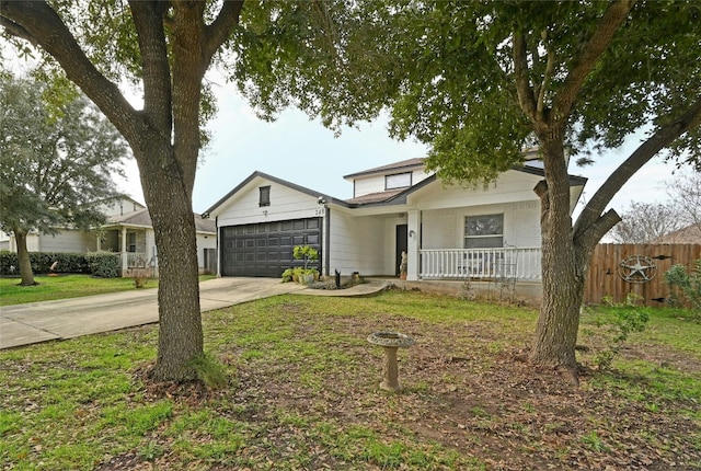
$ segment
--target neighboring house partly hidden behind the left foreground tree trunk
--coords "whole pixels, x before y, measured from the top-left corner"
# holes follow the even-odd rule
[[[124,196],[103,205],[101,210],[107,216],[107,222],[99,230],[59,228],[56,234],[33,232],[27,237],[27,250],[62,253],[111,251],[122,255],[123,274],[135,266],[157,268],[154,232],[146,206]],[[197,229],[197,261],[202,273],[208,268],[208,251],[215,251],[217,248],[217,231],[214,221],[203,219],[198,215],[194,217]],[[10,236],[8,245],[10,251],[16,252],[14,237]]]

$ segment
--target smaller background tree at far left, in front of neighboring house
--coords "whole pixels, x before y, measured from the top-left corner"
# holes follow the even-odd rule
[[[21,255],[31,231],[104,222],[99,205],[117,194],[114,176],[129,156],[100,111],[64,85],[0,74],[0,228]],[[34,283],[31,265],[20,271]]]

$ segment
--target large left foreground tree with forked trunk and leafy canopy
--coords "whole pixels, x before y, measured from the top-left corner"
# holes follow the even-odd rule
[[[291,103],[331,116],[319,105],[324,96],[317,95],[333,80],[314,66],[334,56],[335,43],[323,41],[338,37],[327,13],[344,5],[342,0],[0,2],[5,35],[20,48],[38,47],[58,65],[119,130],[137,160],[161,278],[154,379],[195,379],[194,359],[204,353],[192,192],[202,124],[214,112],[205,73],[218,62],[253,101],[274,97],[262,115]],[[260,55],[284,65],[287,74],[260,67]],[[125,82],[140,92],[141,103],[127,100]],[[322,87],[304,87],[313,83]]]

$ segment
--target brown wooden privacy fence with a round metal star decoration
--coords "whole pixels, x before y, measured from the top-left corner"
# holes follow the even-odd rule
[[[665,272],[673,265],[690,271],[699,259],[701,244],[599,244],[591,255],[584,302],[599,303],[605,296],[623,302],[633,292],[644,306],[665,307]]]

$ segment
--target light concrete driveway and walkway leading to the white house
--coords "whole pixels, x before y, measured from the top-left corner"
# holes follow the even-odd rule
[[[216,278],[199,285],[199,305],[205,312],[289,292],[364,296],[381,289],[381,283],[326,291],[279,278]],[[0,349],[158,322],[157,295],[157,289],[145,289],[2,307]]]

